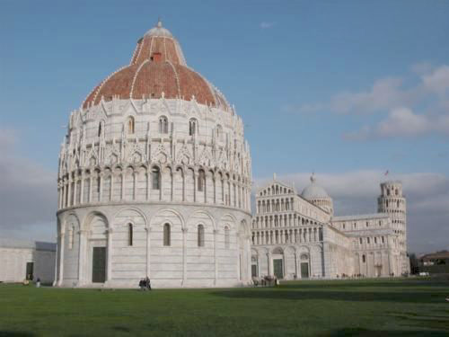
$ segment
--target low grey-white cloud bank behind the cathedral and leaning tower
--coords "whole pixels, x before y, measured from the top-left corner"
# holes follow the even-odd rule
[[[295,182],[298,193],[309,183],[310,173],[291,173],[277,179]],[[258,179],[261,187],[270,179]],[[377,211],[380,182],[399,180],[407,198],[409,252],[447,249],[449,237],[449,178],[440,173],[401,173],[385,177],[383,171],[318,173],[317,182],[334,200],[337,215]]]

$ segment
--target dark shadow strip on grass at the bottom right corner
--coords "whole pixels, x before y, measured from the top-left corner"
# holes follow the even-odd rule
[[[368,330],[363,328],[347,328],[347,329],[341,329],[336,332],[325,334],[324,336],[328,337],[339,337],[339,336],[349,336],[349,337],[355,337],[355,336],[388,336],[388,337],[396,337],[396,336],[409,336],[409,337],[426,337],[426,336],[434,336],[434,337],[447,337],[447,331],[411,331],[411,330],[391,330],[391,331],[384,331],[384,330]]]

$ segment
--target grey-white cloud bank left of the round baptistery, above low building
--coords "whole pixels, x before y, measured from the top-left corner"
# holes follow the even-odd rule
[[[11,129],[0,129],[0,149],[0,235],[53,240],[56,173],[16,155],[16,137]]]

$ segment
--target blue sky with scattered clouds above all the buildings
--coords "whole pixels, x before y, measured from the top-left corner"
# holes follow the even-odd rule
[[[408,198],[409,252],[449,249],[449,2],[0,2],[0,235],[54,241],[71,111],[158,17],[235,105],[254,189],[311,173],[338,215]],[[388,170],[388,176],[384,176]]]

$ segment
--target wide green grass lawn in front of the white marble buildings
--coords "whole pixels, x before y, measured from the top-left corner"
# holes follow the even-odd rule
[[[449,336],[447,296],[447,279],[151,292],[0,285],[0,336]]]

